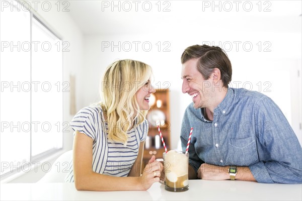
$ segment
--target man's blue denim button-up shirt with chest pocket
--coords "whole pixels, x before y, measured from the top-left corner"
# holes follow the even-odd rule
[[[189,164],[248,166],[261,183],[302,183],[302,148],[285,116],[268,96],[243,88],[228,88],[214,109],[213,121],[193,103],[185,111],[182,149],[190,128]]]

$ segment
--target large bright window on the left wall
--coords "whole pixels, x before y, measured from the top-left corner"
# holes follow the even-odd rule
[[[61,40],[18,2],[5,3],[0,14],[0,175],[61,149],[64,126]]]

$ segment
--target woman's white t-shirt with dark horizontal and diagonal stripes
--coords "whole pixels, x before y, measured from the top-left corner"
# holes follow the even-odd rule
[[[105,127],[103,111],[100,105],[80,110],[70,122],[74,131],[79,131],[93,139],[92,169],[94,172],[111,175],[127,176],[136,160],[139,144],[147,136],[148,124],[144,121],[135,126],[128,134],[127,145],[110,142]],[[74,133],[73,133],[74,135]],[[72,161],[65,182],[74,182]]]

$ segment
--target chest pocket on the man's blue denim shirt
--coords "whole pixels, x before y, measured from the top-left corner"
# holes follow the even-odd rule
[[[258,159],[256,140],[253,136],[243,139],[229,139],[228,141],[230,164],[249,166]]]

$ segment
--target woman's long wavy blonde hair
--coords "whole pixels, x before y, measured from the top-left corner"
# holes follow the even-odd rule
[[[137,124],[145,120],[147,111],[140,111],[135,93],[152,75],[149,65],[130,59],[115,61],[107,67],[100,93],[109,140],[126,145],[127,131],[135,127],[134,120]]]

